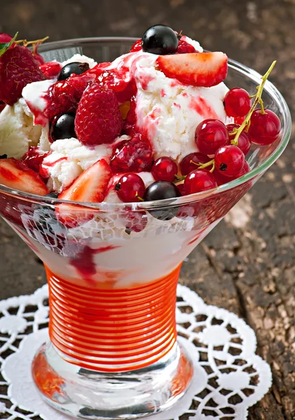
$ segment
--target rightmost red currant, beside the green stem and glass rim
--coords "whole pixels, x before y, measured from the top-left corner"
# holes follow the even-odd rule
[[[256,109],[251,116],[249,127],[249,136],[253,143],[264,146],[271,144],[280,136],[281,123],[280,118],[270,109]]]

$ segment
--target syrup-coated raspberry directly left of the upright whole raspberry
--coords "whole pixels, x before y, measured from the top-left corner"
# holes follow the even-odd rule
[[[82,94],[92,77],[82,74],[70,76],[67,80],[61,80],[50,86],[47,94],[48,106],[46,115],[52,121],[64,113],[76,112]]]

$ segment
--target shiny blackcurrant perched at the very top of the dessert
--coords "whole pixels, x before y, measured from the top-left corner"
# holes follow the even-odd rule
[[[177,51],[177,34],[166,25],[155,25],[142,36],[142,50],[152,54],[173,54]]]

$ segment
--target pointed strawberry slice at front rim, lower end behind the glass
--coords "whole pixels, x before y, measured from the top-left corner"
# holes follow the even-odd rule
[[[104,160],[98,160],[75,179],[69,188],[58,196],[60,200],[85,203],[100,203],[104,200],[111,179],[111,167]],[[57,220],[67,228],[90,221],[95,212],[75,204],[59,204],[55,209]]]

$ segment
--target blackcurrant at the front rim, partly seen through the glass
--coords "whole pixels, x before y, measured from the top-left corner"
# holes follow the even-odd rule
[[[145,201],[165,200],[167,198],[180,197],[181,193],[174,183],[168,181],[156,181],[146,188],[144,193]],[[151,210],[149,213],[160,221],[170,221],[178,212],[179,207],[163,207],[158,210]]]

